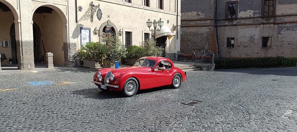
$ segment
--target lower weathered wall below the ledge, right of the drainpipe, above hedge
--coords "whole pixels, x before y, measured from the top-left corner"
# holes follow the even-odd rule
[[[296,35],[294,24],[219,27],[221,57],[296,57]],[[234,48],[227,48],[229,37],[235,38]],[[262,48],[262,37],[272,37],[271,48]]]

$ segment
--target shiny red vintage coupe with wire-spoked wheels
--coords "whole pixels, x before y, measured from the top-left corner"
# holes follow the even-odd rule
[[[166,85],[178,88],[181,82],[186,80],[186,76],[187,73],[174,67],[170,59],[142,57],[133,66],[99,69],[92,82],[101,90],[121,91],[123,96],[130,97],[135,95],[138,89]]]

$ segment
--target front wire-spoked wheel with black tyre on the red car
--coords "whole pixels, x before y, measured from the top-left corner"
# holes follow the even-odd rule
[[[122,94],[125,97],[134,96],[138,91],[138,81],[135,78],[128,78],[123,86]]]

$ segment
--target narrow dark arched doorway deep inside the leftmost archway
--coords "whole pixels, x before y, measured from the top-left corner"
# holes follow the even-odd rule
[[[12,64],[18,64],[18,58],[17,58],[17,44],[15,41],[15,24],[12,23],[10,27],[10,48],[11,48],[11,58],[12,58]]]

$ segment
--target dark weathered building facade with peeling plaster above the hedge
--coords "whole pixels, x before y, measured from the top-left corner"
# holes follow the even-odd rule
[[[183,0],[181,51],[297,57],[296,8],[295,0]]]

